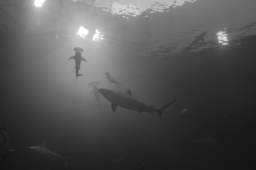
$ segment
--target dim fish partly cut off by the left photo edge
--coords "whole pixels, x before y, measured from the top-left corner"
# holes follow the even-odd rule
[[[14,150],[10,149],[10,140],[7,136],[7,134],[4,132],[4,130],[6,130],[5,128],[3,128],[4,124],[0,123],[0,145],[1,148],[3,148],[3,159],[5,159],[7,157],[8,154],[11,154],[14,152]],[[1,153],[2,155],[2,153]]]

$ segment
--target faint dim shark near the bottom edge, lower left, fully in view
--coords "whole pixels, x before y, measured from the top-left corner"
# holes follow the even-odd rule
[[[65,166],[67,166],[67,161],[71,157],[62,157],[61,155],[56,154],[56,153],[52,152],[51,150],[48,150],[47,148],[45,148],[45,143],[46,143],[46,140],[44,140],[38,146],[29,146],[29,147],[25,147],[25,148],[30,148],[30,149],[36,150],[36,152],[38,152],[38,154],[42,154],[51,160],[63,160],[65,163]]]

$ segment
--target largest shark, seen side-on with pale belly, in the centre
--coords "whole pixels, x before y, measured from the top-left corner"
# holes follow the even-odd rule
[[[144,103],[141,103],[136,98],[132,96],[132,90],[129,89],[126,92],[118,92],[115,90],[109,90],[109,89],[99,89],[100,94],[104,96],[108,101],[111,102],[112,111],[115,112],[117,106],[124,107],[128,110],[135,110],[139,113],[141,112],[157,112],[159,117],[163,116],[163,111],[172,103],[177,101],[178,99],[174,99],[170,103],[167,103],[166,105],[154,108],[153,106],[146,105]]]

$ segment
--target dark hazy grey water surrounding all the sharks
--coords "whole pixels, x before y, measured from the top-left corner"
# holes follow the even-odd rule
[[[71,10],[78,2],[63,1],[63,6],[68,3]],[[57,7],[47,5],[38,12],[33,6],[1,1],[0,122],[16,151],[0,161],[0,170],[255,166],[256,2],[198,0],[162,11],[151,9],[155,12],[146,11],[144,16],[112,16],[94,7],[93,23],[87,24],[106,35],[101,41],[79,36],[56,40]],[[68,18],[72,15],[65,16],[65,10],[65,33],[71,35],[75,24],[68,24],[79,17]],[[36,26],[37,16],[48,19]],[[189,47],[194,36],[204,31],[204,42]],[[227,34],[221,43],[220,31]],[[74,47],[83,48],[88,61],[82,61],[83,76],[78,78],[74,60],[68,60]],[[105,72],[129,83],[121,87],[103,81]],[[154,107],[179,100],[159,118],[156,113],[138,114],[119,106],[112,112],[111,103],[100,94],[101,110],[90,94],[91,81],[99,81],[98,88],[132,89],[135,98]],[[184,108],[186,114],[173,116]],[[189,141],[207,135],[222,143]],[[24,148],[44,139],[46,148],[75,160],[65,167],[63,161]]]

